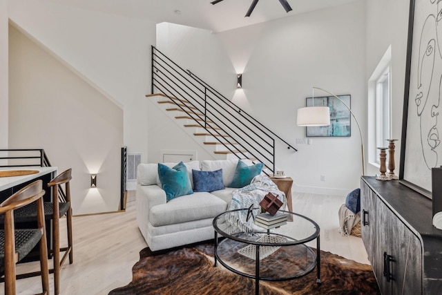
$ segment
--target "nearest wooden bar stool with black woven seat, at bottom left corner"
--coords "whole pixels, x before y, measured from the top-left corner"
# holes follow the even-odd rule
[[[48,249],[44,222],[41,180],[28,184],[0,204],[0,214],[4,216],[5,228],[0,231],[0,273],[4,272],[5,294],[16,293],[15,265],[39,245],[42,294],[49,294]],[[15,229],[14,211],[35,203],[37,209],[37,229]]]

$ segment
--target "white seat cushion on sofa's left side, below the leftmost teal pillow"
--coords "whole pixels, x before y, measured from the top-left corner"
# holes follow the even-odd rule
[[[154,227],[175,225],[177,223],[214,218],[226,211],[227,203],[207,192],[175,198],[167,204],[151,208],[149,221]]]

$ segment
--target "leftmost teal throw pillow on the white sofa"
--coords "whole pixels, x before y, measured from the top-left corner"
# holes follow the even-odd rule
[[[186,165],[179,162],[173,168],[158,163],[158,176],[161,185],[166,192],[166,201],[179,196],[190,195],[193,193],[192,184],[189,180]]]

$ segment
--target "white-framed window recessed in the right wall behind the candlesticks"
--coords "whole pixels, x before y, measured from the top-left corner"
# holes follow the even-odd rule
[[[368,83],[368,156],[369,162],[378,166],[378,147],[387,147],[392,136],[391,123],[391,48],[379,62]],[[388,154],[387,154],[388,157]]]

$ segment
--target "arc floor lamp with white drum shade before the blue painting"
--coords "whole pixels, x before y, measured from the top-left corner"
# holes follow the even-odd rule
[[[329,95],[332,95],[333,97],[338,99],[344,104],[346,108],[348,108],[348,110],[352,114],[354,121],[358,125],[359,135],[361,135],[362,175],[365,175],[364,142],[361,126],[359,126],[358,119],[356,119],[356,116],[352,112],[352,109],[349,108],[349,106],[347,106],[347,104],[345,104],[342,99],[340,99],[330,91],[326,91],[323,88],[313,87],[313,91],[315,89],[324,91],[325,93],[329,93]],[[328,126],[330,124],[330,109],[328,106],[306,106],[305,108],[298,108],[298,117],[296,121],[298,126]]]

